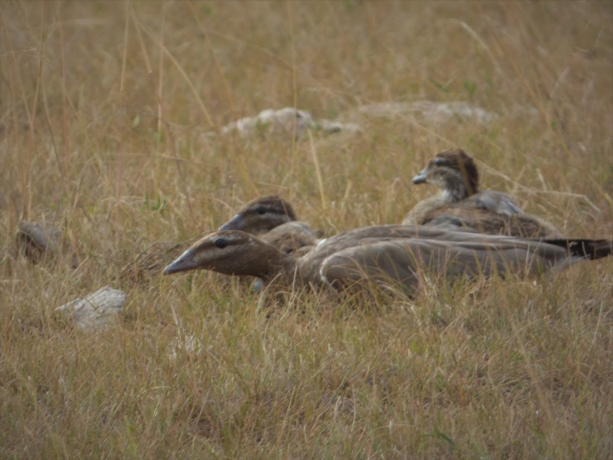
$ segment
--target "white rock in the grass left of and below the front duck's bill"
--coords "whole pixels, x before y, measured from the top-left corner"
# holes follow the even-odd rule
[[[69,302],[56,310],[72,315],[80,328],[93,329],[107,327],[123,312],[128,298],[123,291],[104,286],[95,293]]]

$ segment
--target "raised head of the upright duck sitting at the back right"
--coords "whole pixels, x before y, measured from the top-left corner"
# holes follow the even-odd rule
[[[430,183],[459,201],[479,188],[479,173],[473,159],[459,148],[438,153],[415,177],[413,183]]]

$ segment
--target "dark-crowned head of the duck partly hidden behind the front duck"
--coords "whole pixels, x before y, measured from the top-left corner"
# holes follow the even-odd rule
[[[276,226],[296,220],[294,209],[284,199],[271,195],[251,201],[219,230],[242,230],[261,234]]]

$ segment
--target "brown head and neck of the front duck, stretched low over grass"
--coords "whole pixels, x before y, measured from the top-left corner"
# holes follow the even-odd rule
[[[291,256],[253,235],[241,230],[223,230],[202,237],[166,266],[163,273],[204,269],[267,279],[281,272],[286,264],[292,264]]]

